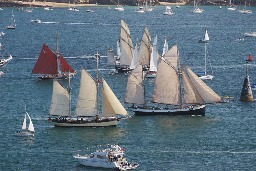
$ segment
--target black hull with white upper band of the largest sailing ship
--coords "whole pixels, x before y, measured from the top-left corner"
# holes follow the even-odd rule
[[[135,109],[129,108],[135,115],[205,115],[205,105],[184,109]]]

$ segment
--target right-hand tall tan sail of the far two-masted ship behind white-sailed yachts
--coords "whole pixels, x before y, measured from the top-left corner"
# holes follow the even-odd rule
[[[139,60],[142,65],[150,64],[150,56],[152,51],[151,45],[151,35],[146,26],[144,29],[144,34],[141,38],[140,51],[139,51]]]

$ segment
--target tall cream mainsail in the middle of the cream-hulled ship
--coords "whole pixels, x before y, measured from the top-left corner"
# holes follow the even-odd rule
[[[74,116],[97,115],[97,82],[82,67],[80,89]]]

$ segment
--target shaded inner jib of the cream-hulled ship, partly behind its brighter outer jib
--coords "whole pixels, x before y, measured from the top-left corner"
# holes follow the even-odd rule
[[[104,91],[104,89],[101,87],[101,94],[102,94],[102,112],[101,117],[115,117],[115,111],[111,105],[111,103],[108,100],[108,97]]]

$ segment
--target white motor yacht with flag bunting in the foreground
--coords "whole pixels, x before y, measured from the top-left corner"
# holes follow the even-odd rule
[[[96,152],[93,152],[90,155],[81,156],[80,154],[75,154],[75,156],[73,157],[77,159],[81,165],[91,167],[112,168],[115,170],[129,170],[139,166],[139,164],[128,162],[123,157],[123,155],[124,149],[120,148],[118,145],[113,144],[109,148],[107,147],[104,150],[96,150]]]

